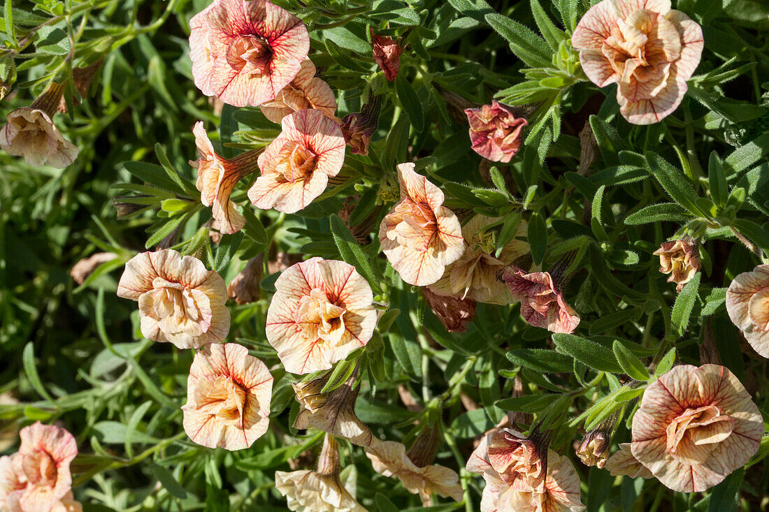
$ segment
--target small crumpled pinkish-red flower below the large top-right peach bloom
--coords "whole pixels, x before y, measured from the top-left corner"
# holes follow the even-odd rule
[[[495,100],[481,108],[466,108],[473,151],[491,161],[507,163],[518,153],[528,121]]]

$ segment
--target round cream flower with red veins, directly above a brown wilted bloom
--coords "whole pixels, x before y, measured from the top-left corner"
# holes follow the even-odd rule
[[[351,264],[310,258],[284,271],[275,290],[267,340],[292,374],[328,370],[374,334],[374,295]]]

